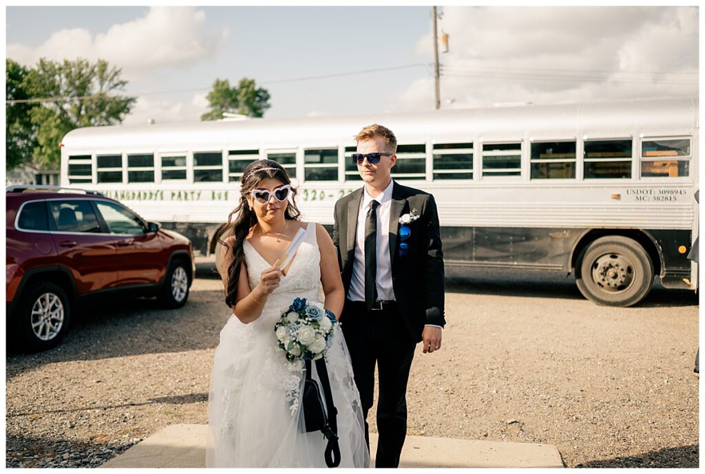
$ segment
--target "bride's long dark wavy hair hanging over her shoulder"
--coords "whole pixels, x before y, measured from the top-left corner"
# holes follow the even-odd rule
[[[255,189],[262,180],[274,178],[286,185],[291,184],[291,178],[286,170],[276,161],[257,160],[253,161],[243,171],[240,181],[240,204],[228,216],[228,222],[221,225],[216,231],[216,239],[226,247],[226,251],[233,253],[233,261],[228,266],[228,287],[226,288],[225,303],[229,308],[235,306],[238,296],[238,277],[240,277],[240,266],[243,264],[245,254],[243,245],[245,237],[250,233],[252,227],[257,224],[255,210],[247,203],[247,196]],[[296,189],[291,188],[291,199],[286,208],[284,218],[288,220],[299,220],[300,211],[296,207]],[[233,216],[235,220],[233,221]],[[229,245],[225,239],[235,237],[233,244]]]

